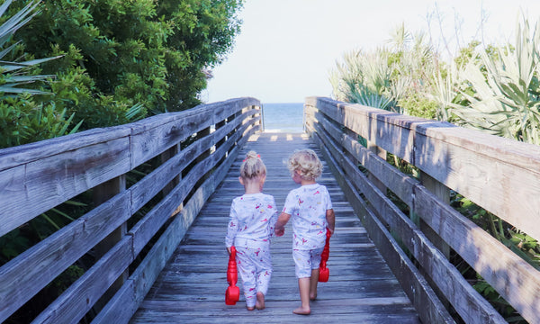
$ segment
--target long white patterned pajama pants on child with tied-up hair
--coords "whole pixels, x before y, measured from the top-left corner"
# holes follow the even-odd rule
[[[272,257],[270,249],[236,247],[238,273],[242,278],[244,296],[247,307],[254,307],[257,302],[257,292],[268,290],[272,276]]]

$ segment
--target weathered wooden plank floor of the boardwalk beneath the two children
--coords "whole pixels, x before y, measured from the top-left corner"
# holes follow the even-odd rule
[[[311,315],[292,313],[300,305],[300,296],[294,276],[290,223],[284,237],[272,242],[274,274],[266,309],[247,311],[243,294],[236,305],[225,305],[228,255],[224,238],[230,202],[243,193],[238,167],[247,150],[256,150],[268,169],[264,192],[273,194],[281,208],[287,193],[297,186],[284,165],[295,148],[318,151],[305,134],[262,133],[247,142],[130,323],[419,323],[410,300],[324,161],[319,182],[327,185],[331,194],[336,234],[330,240],[330,279],[319,284],[319,297],[311,302]]]

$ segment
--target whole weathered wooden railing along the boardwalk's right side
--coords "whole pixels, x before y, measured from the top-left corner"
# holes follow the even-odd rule
[[[304,114],[423,322],[453,322],[448,304],[466,323],[506,322],[448,261],[452,248],[524,319],[540,323],[540,272],[448,204],[454,190],[540,238],[540,147],[321,97],[307,98]],[[387,152],[416,166],[419,178],[386,163]]]

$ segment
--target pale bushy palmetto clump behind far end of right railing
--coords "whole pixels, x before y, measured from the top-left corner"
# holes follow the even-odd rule
[[[424,35],[412,35],[401,25],[389,43],[391,48],[344,55],[330,74],[338,100],[402,112],[401,99],[427,91],[437,59]]]

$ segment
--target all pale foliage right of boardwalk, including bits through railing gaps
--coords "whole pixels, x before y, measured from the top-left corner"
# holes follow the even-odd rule
[[[392,32],[390,43],[344,54],[330,75],[335,98],[540,144],[540,23],[531,29],[524,19],[513,43],[495,47],[473,41],[449,62],[441,61],[421,34],[411,36],[403,26]],[[418,175],[392,154],[387,160]],[[451,205],[540,269],[536,239],[459,193],[452,192]],[[524,322],[461,257],[452,261],[509,322]]]

